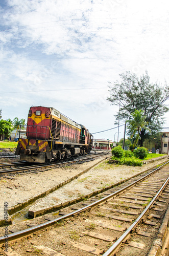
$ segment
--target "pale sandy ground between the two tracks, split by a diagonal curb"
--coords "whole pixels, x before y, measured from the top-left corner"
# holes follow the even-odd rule
[[[58,183],[73,177],[74,175],[82,172],[82,170],[100,162],[101,160],[104,160],[104,157],[99,157],[94,161],[79,165],[75,164],[68,167],[58,168],[53,167],[43,173],[19,174],[15,176],[14,180],[2,178],[0,180],[0,207],[1,209],[3,208],[4,202],[8,203],[9,208],[16,204],[25,202],[35,195],[56,186]],[[108,163],[99,164],[80,176],[78,179],[71,181],[69,184],[64,185],[54,193],[50,194],[46,197],[46,200],[39,200],[39,207],[49,205],[49,203],[46,204],[46,202],[50,202],[50,204],[55,205],[60,201],[64,202],[76,197],[84,196],[93,190],[98,190],[105,186],[115,184],[164,161],[165,159],[156,159],[154,163],[136,167]],[[3,218],[2,211],[0,219],[1,218]]]

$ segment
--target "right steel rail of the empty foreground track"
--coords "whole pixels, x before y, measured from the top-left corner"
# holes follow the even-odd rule
[[[166,181],[163,183],[162,187],[158,190],[157,194],[154,196],[154,198],[151,200],[151,202],[148,204],[148,206],[142,211],[142,213],[139,215],[139,217],[126,230],[126,232],[122,235],[122,237],[120,237],[102,256],[112,256],[112,255],[114,255],[115,251],[119,248],[119,246],[127,238],[127,236],[130,234],[130,232],[138,225],[138,223],[141,221],[143,216],[147,213],[147,211],[150,209],[150,207],[154,204],[157,197],[162,192],[163,188],[167,185],[168,181],[169,181],[169,177],[166,179]]]

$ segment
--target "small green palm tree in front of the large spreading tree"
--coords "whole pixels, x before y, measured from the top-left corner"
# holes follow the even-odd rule
[[[147,127],[148,122],[145,121],[146,116],[144,116],[142,110],[135,110],[131,114],[131,119],[128,122],[127,128],[129,130],[128,134],[131,135],[131,138],[135,137],[134,145],[137,145],[138,139],[140,138],[140,131],[141,129],[150,131],[150,129]]]

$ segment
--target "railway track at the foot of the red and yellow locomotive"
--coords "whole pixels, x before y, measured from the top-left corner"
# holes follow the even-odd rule
[[[48,167],[53,167],[53,166],[59,166],[59,165],[66,165],[66,164],[74,164],[74,163],[83,163],[84,161],[96,158],[96,157],[100,157],[100,156],[104,156],[109,154],[108,152],[102,152],[102,153],[98,153],[98,154],[91,154],[91,155],[87,155],[87,156],[82,156],[82,157],[78,157],[74,160],[62,160],[60,162],[52,162],[49,164],[32,164],[32,165],[28,165],[27,162],[17,162],[17,163],[8,163],[8,164],[0,164],[0,168],[7,168],[9,166],[17,166],[17,165],[26,165],[26,166],[21,166],[21,167],[16,167],[16,168],[10,168],[10,169],[5,169],[5,170],[0,170],[0,175],[6,175],[6,174],[11,174],[11,173],[22,173],[25,171],[31,172],[33,170],[37,170],[41,169],[41,168],[48,168]]]

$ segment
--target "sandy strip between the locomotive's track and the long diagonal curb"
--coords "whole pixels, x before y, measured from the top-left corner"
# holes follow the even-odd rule
[[[38,174],[24,171],[24,173],[18,173],[15,178],[12,177],[11,179],[8,179],[9,175],[7,177],[2,177],[0,181],[0,197],[4,198],[5,194],[9,207],[8,212],[11,215],[14,212],[17,212],[18,210],[21,210],[22,208],[25,208],[29,204],[33,203],[38,198],[44,197],[58,187],[63,186],[73,179],[76,179],[81,173],[80,170],[82,170],[82,173],[87,172],[87,170],[93,165],[98,164],[106,158],[107,157],[105,156],[99,157],[99,159],[94,159],[91,162],[83,163],[83,166],[76,165],[72,168],[46,166],[44,172],[38,172]],[[85,169],[86,166],[88,166],[88,168]],[[65,180],[65,177],[67,177],[68,180]],[[58,182],[60,180],[61,182]],[[56,185],[57,182],[58,184]],[[53,187],[51,187],[52,184]],[[39,191],[41,191],[41,193],[37,194]],[[3,207],[3,203],[3,201],[0,201],[0,207]],[[0,225],[3,225],[3,223],[4,216],[3,212],[1,211]]]

